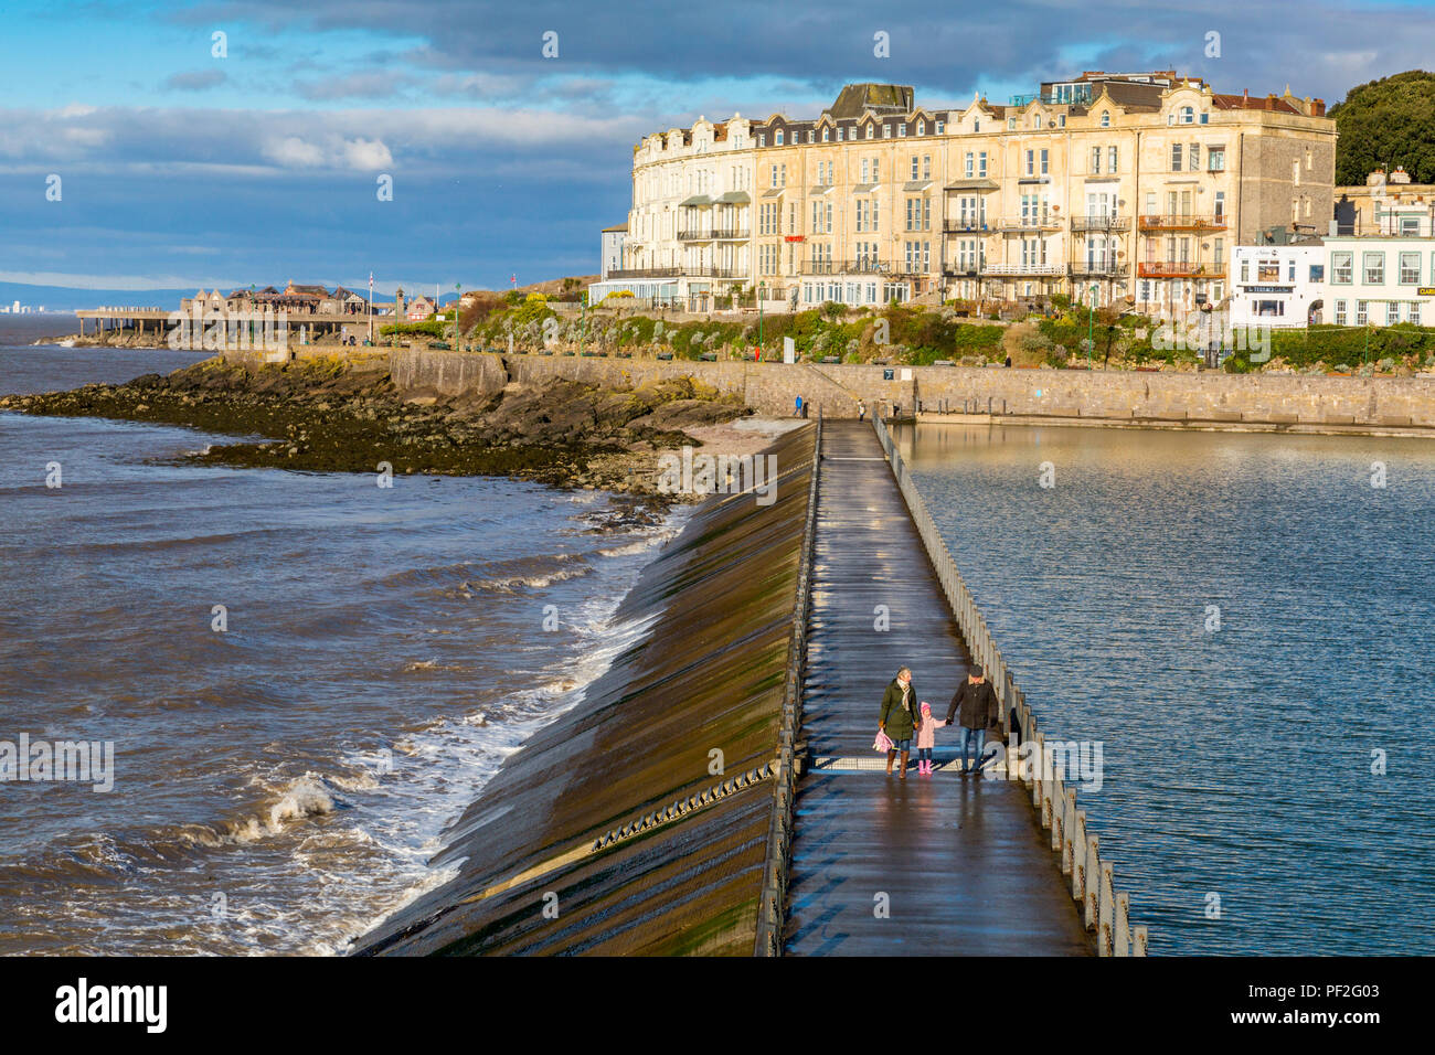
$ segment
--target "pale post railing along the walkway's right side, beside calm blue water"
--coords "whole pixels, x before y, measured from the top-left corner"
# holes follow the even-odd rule
[[[1071,877],[1072,900],[1081,904],[1082,919],[1088,932],[1096,937],[1096,953],[1099,956],[1145,956],[1148,933],[1145,927],[1131,926],[1131,896],[1115,890],[1115,864],[1111,855],[1101,854],[1101,841],[1088,827],[1086,811],[1078,808],[1076,788],[1066,787],[1065,774],[1058,775],[1046,752],[1046,736],[1026,703],[1026,693],[1016,686],[1012,670],[996,647],[986,619],[977,607],[967,589],[957,563],[947,550],[947,543],[937,530],[936,521],[927,511],[927,504],[917,491],[907,464],[901,452],[893,442],[885,422],[880,416],[872,418],[872,428],[877,429],[877,439],[883,445],[891,462],[893,475],[903,498],[907,500],[907,510],[917,525],[927,555],[937,571],[941,589],[947,594],[947,603],[957,619],[961,636],[976,663],[982,665],[992,688],[996,690],[1002,708],[1002,735],[1010,733],[1010,716],[1015,712],[1020,726],[1022,744],[1035,746],[1026,748],[1029,761],[1022,759],[1022,751],[1013,752],[1007,746],[1007,772],[1017,766],[1022,784],[1032,792],[1032,808],[1038,811],[1042,827],[1052,833],[1052,851],[1060,855],[1063,876]],[[817,472],[814,471],[814,482]],[[1016,756],[1013,756],[1016,755]]]

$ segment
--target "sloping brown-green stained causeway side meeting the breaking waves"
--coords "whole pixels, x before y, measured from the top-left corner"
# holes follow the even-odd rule
[[[448,383],[482,365],[409,360]],[[772,446],[776,498],[709,498],[617,619],[653,620],[448,833],[459,876],[360,955],[739,955],[758,933],[815,429]]]

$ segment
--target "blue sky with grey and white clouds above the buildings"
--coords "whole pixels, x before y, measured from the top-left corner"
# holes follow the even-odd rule
[[[11,0],[0,283],[373,273],[387,294],[591,274],[598,231],[627,217],[633,145],[699,115],[815,116],[850,80],[1006,102],[1085,69],[1335,103],[1435,53],[1435,0],[1195,7]]]

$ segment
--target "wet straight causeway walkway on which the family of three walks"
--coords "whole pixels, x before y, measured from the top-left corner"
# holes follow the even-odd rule
[[[828,422],[822,454],[801,739],[809,758],[875,761],[897,669],[941,719],[967,652],[871,425]],[[957,775],[953,744],[937,731],[931,777],[916,748],[905,781],[885,762],[804,769],[786,955],[1093,955],[1022,785]]]

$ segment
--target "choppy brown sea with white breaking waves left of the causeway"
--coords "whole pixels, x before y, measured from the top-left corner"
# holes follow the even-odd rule
[[[0,347],[0,392],[189,360]],[[672,525],[164,464],[214,441],[0,413],[0,741],[115,752],[108,794],[0,784],[0,953],[342,950],[446,877],[445,824],[641,632],[610,616]]]

